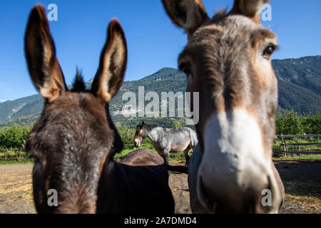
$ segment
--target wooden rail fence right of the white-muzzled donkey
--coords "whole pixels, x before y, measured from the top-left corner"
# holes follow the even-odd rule
[[[315,135],[276,135],[275,155],[300,155],[317,160],[321,159],[321,134]],[[299,142],[300,141],[300,142]],[[303,141],[303,142],[302,142]]]

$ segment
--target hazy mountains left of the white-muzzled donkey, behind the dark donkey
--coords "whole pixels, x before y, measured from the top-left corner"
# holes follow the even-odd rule
[[[93,79],[86,82],[86,88],[91,87],[92,81]],[[154,91],[158,94],[167,91],[173,91],[174,93],[185,91],[185,74],[174,68],[162,68],[151,76],[147,76],[138,81],[124,81],[121,90],[119,90],[117,95],[113,98],[110,105],[111,115],[116,123],[136,126],[138,123],[137,121],[150,119],[125,118],[123,115],[119,115],[123,105],[127,102],[122,101],[123,93],[132,91],[133,93],[138,94],[138,86],[144,86],[145,94],[149,91]],[[70,88],[70,86],[68,87]],[[39,118],[43,107],[44,100],[38,94],[0,103],[0,126],[12,125],[14,123],[19,123],[21,125],[34,123]],[[177,119],[180,118],[158,118],[158,120],[153,120],[153,123],[171,126],[173,120]]]

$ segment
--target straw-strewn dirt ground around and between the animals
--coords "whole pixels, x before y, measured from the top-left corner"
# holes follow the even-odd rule
[[[183,165],[183,164],[172,164]],[[275,161],[285,185],[280,213],[321,212],[321,162]],[[0,213],[36,213],[32,198],[32,165],[0,165]],[[175,213],[191,213],[187,175],[172,173]]]

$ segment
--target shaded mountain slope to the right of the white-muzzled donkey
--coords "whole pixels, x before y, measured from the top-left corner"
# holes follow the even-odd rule
[[[273,60],[279,105],[297,113],[321,112],[321,56]]]

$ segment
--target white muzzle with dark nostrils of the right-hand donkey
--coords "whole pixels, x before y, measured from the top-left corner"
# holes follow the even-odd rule
[[[209,118],[197,184],[203,206],[223,213],[278,211],[280,190],[262,138],[257,121],[245,110]]]

